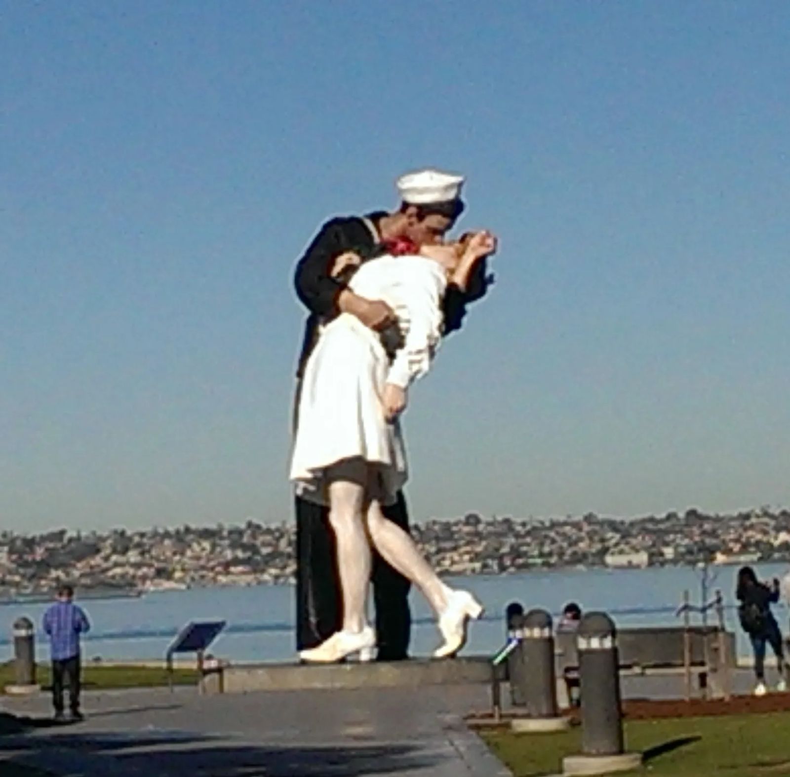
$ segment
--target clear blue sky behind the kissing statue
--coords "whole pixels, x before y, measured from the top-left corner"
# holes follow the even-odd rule
[[[296,257],[468,175],[416,520],[790,504],[790,4],[0,4],[0,526],[288,520]]]

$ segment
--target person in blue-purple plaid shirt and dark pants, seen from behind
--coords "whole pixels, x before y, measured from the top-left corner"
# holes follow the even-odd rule
[[[43,629],[50,638],[52,657],[52,704],[55,720],[63,715],[63,680],[69,683],[72,720],[81,720],[80,712],[80,635],[91,628],[81,607],[74,604],[70,585],[58,588],[57,601],[44,613]]]

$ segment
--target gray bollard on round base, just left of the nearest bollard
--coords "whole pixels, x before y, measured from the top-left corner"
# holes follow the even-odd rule
[[[554,632],[546,610],[529,610],[521,631],[521,671],[527,716],[513,719],[514,731],[538,733],[562,731],[570,720],[557,709]]]

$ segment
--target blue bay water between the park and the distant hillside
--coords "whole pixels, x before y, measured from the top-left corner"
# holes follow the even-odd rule
[[[785,564],[756,566],[758,576],[769,580],[788,572]],[[735,613],[737,566],[709,568],[709,598],[720,589],[726,603],[728,629],[738,634],[739,655],[749,646],[739,629]],[[521,602],[525,610],[544,607],[559,616],[566,602],[578,602],[583,610],[605,610],[619,628],[680,625],[676,611],[683,590],[691,601],[701,602],[702,570],[691,567],[650,569],[555,569],[505,576],[450,577],[455,587],[472,591],[486,608],[481,621],[469,632],[465,654],[493,654],[505,641],[504,610]],[[234,662],[288,661],[295,658],[295,588],[289,585],[254,587],[207,587],[187,591],[160,591],[139,599],[105,599],[83,602],[92,631],[83,645],[85,660],[163,659],[174,636],[188,621],[224,620],[223,634],[209,648],[213,655]],[[22,615],[36,623],[37,653],[47,660],[47,644],[40,632],[47,604],[0,606],[0,661],[13,657],[13,621]],[[775,609],[784,633],[788,610]],[[412,591],[412,655],[429,655],[439,642],[434,617],[418,591]],[[710,622],[715,621],[713,612]],[[695,615],[694,623],[700,622]]]

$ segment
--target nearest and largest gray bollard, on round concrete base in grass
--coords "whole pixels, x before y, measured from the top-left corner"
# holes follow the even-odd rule
[[[603,775],[641,764],[641,753],[623,753],[623,716],[615,624],[588,613],[577,632],[581,678],[581,755],[562,760],[566,775]]]

